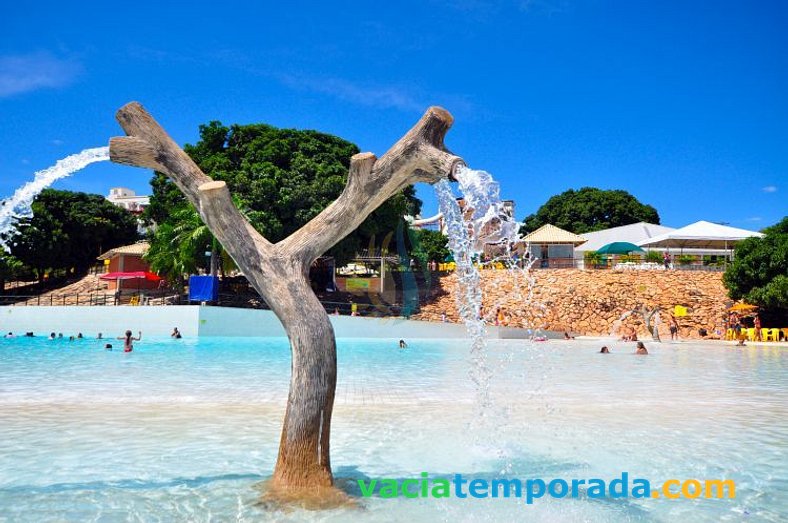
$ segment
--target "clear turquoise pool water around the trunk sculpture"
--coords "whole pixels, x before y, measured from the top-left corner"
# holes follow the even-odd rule
[[[724,478],[733,500],[382,499],[271,511],[286,340],[0,340],[0,521],[784,521],[788,356],[690,343],[492,341],[479,416],[467,344],[340,340],[338,478]],[[117,346],[117,343],[115,343]]]

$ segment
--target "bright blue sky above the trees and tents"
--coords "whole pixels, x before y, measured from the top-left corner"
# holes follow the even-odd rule
[[[181,144],[209,120],[266,122],[378,155],[441,105],[448,147],[518,219],[583,186],[627,190],[674,227],[788,214],[784,2],[65,4],[3,8],[0,197],[122,134],[130,100]],[[98,164],[56,187],[147,193],[150,174]]]

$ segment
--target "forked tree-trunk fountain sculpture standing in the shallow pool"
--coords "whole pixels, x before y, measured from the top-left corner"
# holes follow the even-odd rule
[[[462,163],[443,144],[452,116],[431,107],[379,159],[372,153],[354,155],[347,184],[336,201],[276,244],[241,215],[225,182],[203,173],[140,104],[125,105],[117,119],[128,136],[110,140],[112,161],[167,174],[287,332],[292,375],[272,487],[299,490],[333,485],[329,435],[336,341],[328,315],[309,285],[309,267],[406,185],[451,177]]]

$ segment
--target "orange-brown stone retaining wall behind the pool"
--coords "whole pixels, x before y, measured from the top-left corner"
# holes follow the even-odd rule
[[[529,280],[533,281],[530,287]],[[417,319],[457,322],[454,274],[441,279],[443,292],[423,304]],[[624,313],[641,306],[660,307],[660,336],[669,339],[668,312],[676,305],[687,308],[677,317],[682,338],[699,338],[698,329],[723,329],[725,310],[731,304],[722,285],[722,273],[701,271],[615,271],[540,269],[513,277],[506,271],[482,271],[485,319],[494,323],[500,307],[503,324],[539,327],[580,335],[618,334],[622,326],[634,327],[640,339],[650,339],[643,317]]]

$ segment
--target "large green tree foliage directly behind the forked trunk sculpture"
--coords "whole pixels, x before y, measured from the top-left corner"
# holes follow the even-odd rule
[[[347,180],[350,157],[359,151],[350,142],[317,131],[265,124],[226,127],[216,121],[200,126],[200,140],[184,150],[207,175],[227,183],[236,205],[271,242],[301,228],[339,196]],[[166,249],[168,240],[163,236],[173,234],[182,216],[179,211],[191,208],[191,204],[162,173],[154,174],[151,185],[153,196],[146,217],[158,224],[158,238],[152,239],[151,249]],[[344,263],[366,247],[370,238],[395,230],[404,214],[416,214],[420,206],[415,189],[406,187],[329,254],[339,264]],[[177,242],[169,252],[189,255]],[[202,254],[199,249],[196,252]],[[184,260],[181,268],[190,265]]]

